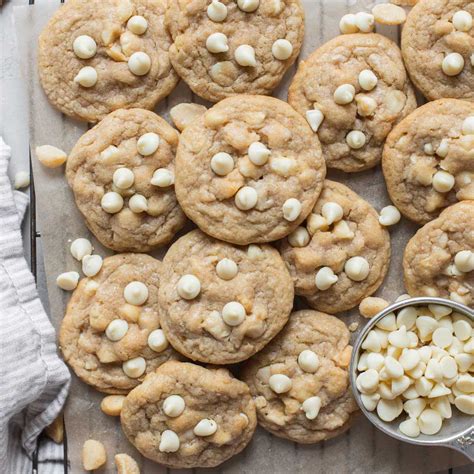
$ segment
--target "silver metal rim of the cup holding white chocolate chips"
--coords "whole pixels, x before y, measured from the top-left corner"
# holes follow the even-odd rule
[[[356,387],[356,378],[357,378],[357,365],[359,362],[359,354],[361,350],[362,342],[364,341],[365,337],[369,333],[369,331],[387,314],[390,314],[394,311],[397,311],[402,308],[406,308],[409,306],[419,306],[419,305],[429,305],[429,304],[437,304],[442,306],[448,306],[455,310],[458,313],[461,313],[472,320],[474,320],[474,310],[469,308],[468,306],[458,303],[457,301],[452,301],[446,298],[438,298],[438,297],[415,297],[415,298],[406,298],[395,303],[390,304],[385,309],[380,311],[374,317],[368,320],[367,324],[362,328],[359,332],[356,341],[352,346],[352,355],[351,361],[349,366],[349,378],[351,383],[351,388],[353,392],[354,399],[357,402],[360,410],[364,414],[365,418],[367,418],[370,423],[375,426],[377,429],[381,430],[385,434],[389,435],[392,438],[395,438],[399,441],[404,441],[406,443],[415,444],[419,446],[446,446],[451,444],[453,441],[458,439],[459,437],[468,435],[472,431],[472,426],[467,427],[464,430],[461,430],[453,435],[446,436],[444,438],[438,438],[432,441],[424,440],[424,439],[417,439],[417,438],[410,438],[402,433],[398,433],[394,431],[392,428],[388,428],[388,423],[378,418],[372,412],[368,411],[362,403],[361,393]]]

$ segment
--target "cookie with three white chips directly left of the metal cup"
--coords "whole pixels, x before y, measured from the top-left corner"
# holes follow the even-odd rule
[[[258,422],[276,436],[317,443],[346,431],[357,412],[346,325],[324,313],[292,313],[283,331],[244,366]]]

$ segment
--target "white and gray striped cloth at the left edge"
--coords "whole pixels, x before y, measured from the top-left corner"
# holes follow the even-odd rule
[[[9,160],[0,137],[0,471],[30,474],[38,437],[61,412],[70,374],[23,255],[28,196],[12,190]],[[42,443],[39,474],[63,472],[62,457],[62,446]]]

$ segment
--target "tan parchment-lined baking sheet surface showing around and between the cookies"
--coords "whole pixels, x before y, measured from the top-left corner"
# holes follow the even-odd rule
[[[370,8],[374,3],[367,0],[303,0],[306,10],[306,35],[300,58],[304,59],[317,46],[338,34],[340,17],[348,12]],[[377,2],[380,3],[380,2]],[[29,95],[30,145],[51,144],[69,151],[76,140],[87,130],[84,123],[75,122],[49,105],[38,80],[36,70],[36,43],[39,32],[58,8],[59,0],[36,1],[34,6],[15,8],[19,54],[22,61],[24,85]],[[378,28],[378,32],[399,38],[396,27]],[[275,96],[286,99],[288,84],[294,74],[289,71],[275,92]],[[200,102],[184,83],[163,101],[156,112],[169,120],[169,109],[180,102]],[[95,252],[106,256],[111,251],[103,248],[88,232],[77,210],[72,193],[66,184],[64,170],[47,169],[33,160],[33,171],[37,199],[37,225],[42,236],[47,284],[51,307],[51,319],[56,328],[62,320],[69,299],[55,283],[56,276],[66,270],[80,271],[80,265],[69,252],[70,242],[77,237],[89,237]],[[358,174],[330,171],[328,177],[343,182],[367,199],[376,209],[389,204],[380,167]],[[390,270],[377,295],[394,300],[404,293],[402,282],[402,254],[407,240],[416,231],[416,226],[404,219],[390,230],[392,239],[392,261]],[[158,252],[157,256],[162,256]],[[358,321],[364,325],[357,311],[339,315],[347,324]],[[113,456],[126,452],[139,461],[142,473],[179,473],[181,470],[167,469],[141,457],[127,442],[120,429],[118,419],[104,415],[99,403],[103,395],[79,381],[73,374],[71,394],[65,410],[68,457],[70,472],[83,472],[80,456],[83,442],[88,438],[102,441],[109,456],[105,468],[98,472],[115,472]],[[240,455],[217,469],[196,469],[199,473],[415,473],[439,471],[466,463],[466,459],[446,448],[414,447],[399,443],[377,431],[362,416],[346,434],[312,446],[291,443],[270,435],[263,429],[257,433]],[[189,471],[182,471],[189,472]],[[39,474],[42,474],[41,472]]]

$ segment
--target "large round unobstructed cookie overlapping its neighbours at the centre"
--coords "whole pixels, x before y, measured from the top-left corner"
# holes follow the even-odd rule
[[[216,104],[181,134],[176,195],[206,234],[271,242],[304,220],[326,174],[317,137],[288,104],[241,95]]]

